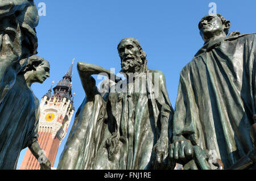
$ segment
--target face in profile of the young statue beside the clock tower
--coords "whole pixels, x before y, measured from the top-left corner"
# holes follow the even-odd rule
[[[44,64],[36,67],[34,74],[35,82],[43,83],[49,77],[49,63],[44,61]]]

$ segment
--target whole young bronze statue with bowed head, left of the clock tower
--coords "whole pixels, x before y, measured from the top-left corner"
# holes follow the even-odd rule
[[[31,56],[25,68],[17,75],[12,89],[7,92],[0,108],[0,169],[16,169],[19,153],[29,148],[39,158],[42,153],[38,137],[39,100],[31,90],[32,83],[43,83],[49,77],[49,63]],[[45,157],[45,155],[43,155]],[[45,157],[41,169],[51,169]]]

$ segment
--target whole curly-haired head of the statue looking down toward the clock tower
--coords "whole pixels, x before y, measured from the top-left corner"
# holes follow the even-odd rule
[[[49,77],[49,62],[39,56],[31,56],[28,58],[27,65],[21,73],[24,74],[27,82],[43,83]]]

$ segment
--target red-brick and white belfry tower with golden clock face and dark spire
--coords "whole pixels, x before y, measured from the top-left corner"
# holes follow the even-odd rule
[[[75,107],[73,106],[74,97],[72,96],[73,62],[63,79],[53,88],[53,94],[52,84],[51,89],[43,96],[40,103],[38,143],[46,152],[46,157],[51,161],[52,167],[61,141],[63,141],[67,134],[69,124],[75,112]],[[38,160],[29,149],[27,149],[19,169],[40,169]]]

